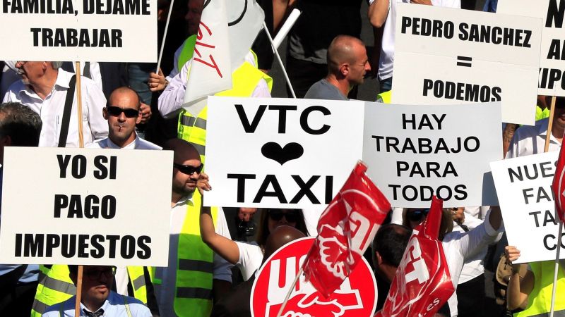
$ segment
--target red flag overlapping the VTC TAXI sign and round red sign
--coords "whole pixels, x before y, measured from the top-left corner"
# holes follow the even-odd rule
[[[304,274],[316,290],[329,297],[349,276],[391,204],[357,163],[318,222],[318,237],[304,261]]]

